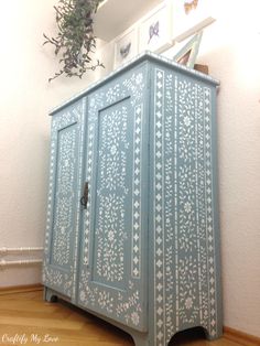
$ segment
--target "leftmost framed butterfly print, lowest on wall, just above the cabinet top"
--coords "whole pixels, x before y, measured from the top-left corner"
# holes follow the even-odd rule
[[[131,26],[115,39],[115,63],[117,68],[138,54],[138,28]]]

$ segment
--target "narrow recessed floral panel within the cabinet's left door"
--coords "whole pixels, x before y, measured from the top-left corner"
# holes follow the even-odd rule
[[[57,131],[55,196],[50,264],[69,270],[77,169],[77,122]],[[74,202],[74,203],[73,203]]]

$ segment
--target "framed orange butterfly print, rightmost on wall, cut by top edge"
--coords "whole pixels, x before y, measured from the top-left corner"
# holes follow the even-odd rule
[[[212,24],[213,13],[213,0],[174,0],[173,40],[181,42]]]

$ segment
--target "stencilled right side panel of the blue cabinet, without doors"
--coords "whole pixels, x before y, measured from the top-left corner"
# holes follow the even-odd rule
[[[221,325],[218,215],[214,186],[215,87],[155,67],[151,133],[154,262],[152,324],[155,345],[176,332]],[[155,343],[155,342],[154,342]]]

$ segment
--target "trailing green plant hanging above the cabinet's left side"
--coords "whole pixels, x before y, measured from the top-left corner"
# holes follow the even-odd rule
[[[82,78],[87,71],[104,67],[98,60],[94,63],[91,58],[96,50],[93,15],[100,2],[102,0],[58,0],[54,7],[58,33],[56,37],[43,34],[46,40],[43,44],[55,46],[62,67],[48,82],[63,74]]]

